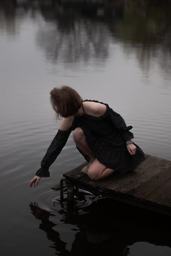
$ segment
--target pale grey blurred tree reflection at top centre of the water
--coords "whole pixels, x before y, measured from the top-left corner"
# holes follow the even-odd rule
[[[42,10],[47,23],[40,25],[37,42],[53,63],[77,63],[90,59],[103,62],[108,57],[109,30],[103,23],[82,18],[73,11],[57,8]],[[51,22],[51,24],[48,23]]]

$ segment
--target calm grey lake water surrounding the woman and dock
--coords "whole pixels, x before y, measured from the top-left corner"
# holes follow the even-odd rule
[[[29,188],[60,126],[49,91],[62,84],[108,103],[145,153],[171,160],[170,14],[157,0],[0,2],[2,256],[171,255],[169,218],[81,191],[73,215],[60,204],[51,186],[84,161],[72,136]]]

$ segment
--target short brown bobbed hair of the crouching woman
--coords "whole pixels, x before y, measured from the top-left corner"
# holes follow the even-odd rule
[[[56,119],[72,116],[82,106],[82,98],[78,92],[67,85],[53,88],[50,95],[51,105],[56,112]]]

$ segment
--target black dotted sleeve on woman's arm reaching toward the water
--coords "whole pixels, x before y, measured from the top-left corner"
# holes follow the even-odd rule
[[[71,129],[67,131],[58,130],[58,133],[54,137],[51,145],[49,146],[47,153],[44,155],[41,168],[36,172],[38,177],[50,177],[49,166],[55,161],[55,159],[60,154],[62,148],[67,143],[68,137],[71,133]]]

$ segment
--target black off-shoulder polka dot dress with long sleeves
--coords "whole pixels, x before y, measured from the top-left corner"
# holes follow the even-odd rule
[[[93,102],[99,101],[93,100]],[[69,130],[58,130],[46,155],[42,159],[41,168],[36,172],[37,176],[50,176],[49,166],[51,166],[56,157],[60,154],[71,131],[78,127],[83,130],[89,148],[95,157],[107,168],[111,168],[118,173],[127,173],[144,161],[144,153],[135,143],[134,145],[137,147],[135,155],[130,155],[127,150],[126,141],[133,139],[133,133],[130,132],[132,126],[127,127],[124,119],[118,113],[113,111],[108,104],[102,104],[106,105],[107,110],[101,117],[87,115],[84,112],[84,115],[74,118],[73,124]],[[89,162],[89,157],[79,148],[78,150],[87,162]]]

